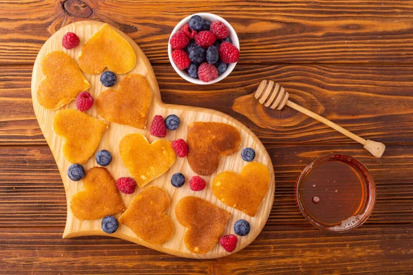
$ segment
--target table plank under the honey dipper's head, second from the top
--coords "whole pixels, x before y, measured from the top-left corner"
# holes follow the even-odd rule
[[[412,144],[412,66],[238,65],[222,83],[205,86],[185,82],[169,65],[153,69],[165,102],[228,113],[264,142],[354,144],[289,107],[264,109],[252,93],[268,79],[281,83],[291,100],[357,135]],[[31,74],[30,66],[0,67],[1,145],[46,144],[32,109]]]

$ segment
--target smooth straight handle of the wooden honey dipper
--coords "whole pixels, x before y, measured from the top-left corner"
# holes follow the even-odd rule
[[[323,118],[321,115],[317,115],[317,113],[313,113],[312,111],[299,106],[298,104],[295,104],[294,102],[291,102],[288,100],[286,102],[286,105],[301,112],[306,115],[308,115],[310,118],[314,118],[315,120],[318,120],[321,123],[326,124],[327,126],[330,126],[332,129],[335,129],[336,131],[339,131],[343,135],[346,135],[350,137],[352,140],[355,140],[361,144],[363,144],[364,148],[369,151],[374,157],[381,157],[383,155],[384,150],[385,150],[385,145],[380,143],[380,142],[374,142],[372,140],[365,140],[358,135],[354,135],[354,133],[344,129],[343,127],[335,124],[334,122],[331,122],[330,120],[327,120],[326,118]]]

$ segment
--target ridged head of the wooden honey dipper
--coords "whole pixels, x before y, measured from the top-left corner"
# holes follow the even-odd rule
[[[257,98],[258,102],[271,109],[277,108],[281,110],[284,108],[288,101],[288,96],[285,89],[279,86],[278,83],[274,83],[274,81],[262,80],[257,91],[255,91],[255,98]]]

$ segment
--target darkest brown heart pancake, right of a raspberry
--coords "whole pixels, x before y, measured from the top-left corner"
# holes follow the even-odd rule
[[[188,163],[198,175],[211,175],[221,155],[235,153],[241,144],[240,132],[220,122],[193,122],[188,125]]]

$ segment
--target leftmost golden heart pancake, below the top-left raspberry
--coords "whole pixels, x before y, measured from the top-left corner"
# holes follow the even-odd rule
[[[41,72],[46,78],[40,83],[36,98],[45,109],[59,109],[90,87],[74,60],[61,51],[43,58]]]

